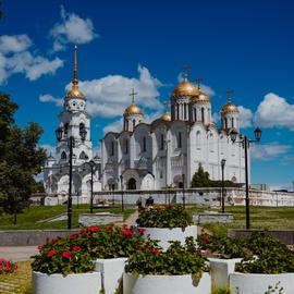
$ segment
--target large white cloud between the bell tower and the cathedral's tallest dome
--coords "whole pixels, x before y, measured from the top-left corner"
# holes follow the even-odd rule
[[[157,99],[161,82],[152,77],[148,69],[138,65],[139,77],[108,75],[98,79],[84,81],[79,88],[87,97],[87,109],[90,114],[102,118],[115,118],[131,103],[130,93],[135,89],[136,103],[148,109],[163,109]],[[66,86],[66,90],[71,84]]]

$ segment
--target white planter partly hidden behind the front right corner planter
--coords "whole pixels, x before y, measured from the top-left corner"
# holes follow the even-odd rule
[[[212,286],[226,287],[229,285],[229,274],[235,272],[235,264],[240,262],[242,258],[208,258],[208,260]]]

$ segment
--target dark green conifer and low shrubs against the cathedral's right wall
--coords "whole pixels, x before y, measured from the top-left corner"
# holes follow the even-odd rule
[[[204,171],[201,164],[199,164],[197,172],[194,173],[191,182],[192,187],[221,187],[221,181],[213,181],[209,179],[209,173]],[[235,184],[232,181],[223,181],[224,187],[234,187]]]

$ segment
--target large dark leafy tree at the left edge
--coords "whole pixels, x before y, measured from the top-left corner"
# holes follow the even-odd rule
[[[37,146],[42,128],[34,122],[24,128],[15,125],[16,109],[9,95],[0,94],[0,212],[14,215],[14,222],[28,205],[34,175],[46,160],[45,150]]]

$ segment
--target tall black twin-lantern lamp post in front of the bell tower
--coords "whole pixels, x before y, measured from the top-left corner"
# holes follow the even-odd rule
[[[62,134],[63,128],[58,127],[56,131],[57,139],[60,142],[62,140]],[[87,131],[85,128],[81,130],[79,132],[81,138],[84,142],[87,135]],[[75,146],[75,138],[73,136],[70,136],[68,138],[68,146],[70,149],[70,183],[69,183],[69,199],[68,199],[68,229],[72,229],[72,215],[73,215],[73,208],[72,208],[72,182],[73,182],[73,148]]]

